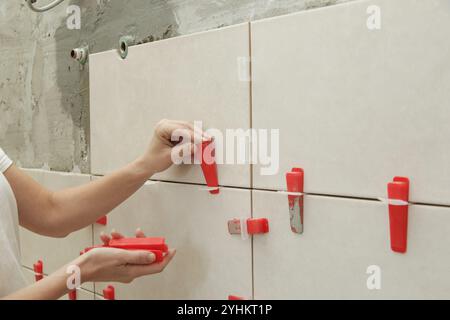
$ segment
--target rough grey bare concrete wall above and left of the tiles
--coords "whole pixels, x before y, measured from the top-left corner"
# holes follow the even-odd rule
[[[0,1],[0,146],[23,167],[89,172],[89,67],[70,59],[72,48],[99,52],[121,35],[156,41],[347,1],[67,0],[42,14]],[[79,30],[67,28],[69,5],[81,8]]]

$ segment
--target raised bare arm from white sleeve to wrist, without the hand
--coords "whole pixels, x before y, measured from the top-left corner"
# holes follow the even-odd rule
[[[11,166],[5,172],[19,209],[20,224],[41,235],[65,237],[94,223],[138,190],[153,175],[152,161],[139,158],[103,178],[50,192]]]

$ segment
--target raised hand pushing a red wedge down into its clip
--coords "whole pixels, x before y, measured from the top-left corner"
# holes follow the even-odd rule
[[[158,173],[172,165],[172,153],[191,156],[196,144],[209,140],[210,137],[189,122],[161,120],[142,160],[150,172]]]

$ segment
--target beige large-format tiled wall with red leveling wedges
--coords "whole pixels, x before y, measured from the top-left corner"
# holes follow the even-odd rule
[[[178,249],[164,273],[117,284],[118,299],[450,298],[450,19],[448,2],[434,2],[358,1],[132,47],[125,60],[92,55],[94,175],[139,155],[162,118],[279,129],[280,171],[219,165],[214,196],[197,185],[198,166],[174,167],[68,246],[141,227]],[[369,5],[381,8],[379,30],[367,28]],[[301,235],[278,192],[295,166],[305,169]],[[391,251],[378,201],[396,175],[411,180],[405,254]],[[228,234],[229,219],[251,216],[270,232]],[[370,266],[379,290],[367,286]]]

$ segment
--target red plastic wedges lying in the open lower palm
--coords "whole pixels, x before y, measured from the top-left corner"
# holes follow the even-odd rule
[[[164,238],[122,238],[111,239],[107,245],[95,246],[84,249],[86,253],[95,248],[115,248],[122,250],[142,250],[155,255],[155,262],[161,262],[169,252],[169,247]]]

